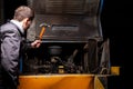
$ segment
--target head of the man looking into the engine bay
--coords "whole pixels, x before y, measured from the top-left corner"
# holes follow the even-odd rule
[[[30,27],[33,18],[34,18],[33,10],[27,6],[20,6],[14,11],[13,19],[18,20],[19,22],[22,22],[22,28],[24,30],[27,30]]]

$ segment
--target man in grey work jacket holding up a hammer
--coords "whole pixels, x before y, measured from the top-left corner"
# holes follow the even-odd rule
[[[32,43],[23,40],[33,18],[31,8],[20,6],[16,9],[13,19],[0,27],[0,89],[17,89],[21,55],[41,44],[41,40]]]

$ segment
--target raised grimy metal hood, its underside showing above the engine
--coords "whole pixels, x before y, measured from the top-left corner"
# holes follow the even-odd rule
[[[99,21],[100,0],[29,0],[28,2],[35,10],[33,28],[30,29],[35,30],[35,38],[41,31],[39,26],[43,22],[51,26],[47,28],[44,40],[88,41],[90,38],[102,38]]]

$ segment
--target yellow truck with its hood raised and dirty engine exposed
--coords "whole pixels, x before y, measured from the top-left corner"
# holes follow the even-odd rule
[[[119,76],[110,61],[110,39],[103,39],[103,0],[28,0],[35,18],[28,42],[41,39],[20,61],[19,89],[108,89]]]

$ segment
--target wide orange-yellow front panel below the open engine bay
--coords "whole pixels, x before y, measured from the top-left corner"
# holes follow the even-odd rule
[[[20,76],[18,89],[94,89],[93,75]]]

